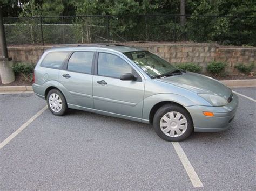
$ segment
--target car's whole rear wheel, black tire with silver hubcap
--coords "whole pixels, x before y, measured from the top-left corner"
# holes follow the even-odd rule
[[[51,89],[47,94],[47,105],[52,114],[62,116],[67,110],[66,100],[57,89]]]

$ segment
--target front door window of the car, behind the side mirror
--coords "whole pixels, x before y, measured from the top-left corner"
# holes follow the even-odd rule
[[[98,75],[119,78],[125,73],[132,73],[132,67],[123,59],[113,54],[99,53]]]

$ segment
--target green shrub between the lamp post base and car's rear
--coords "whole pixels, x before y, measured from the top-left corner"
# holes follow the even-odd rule
[[[29,63],[16,63],[12,66],[15,75],[22,75],[25,80],[32,81],[34,66]]]

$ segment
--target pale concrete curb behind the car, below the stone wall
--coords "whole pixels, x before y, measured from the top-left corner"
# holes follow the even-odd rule
[[[250,80],[221,80],[231,88],[256,87],[256,79]],[[0,86],[0,92],[4,91],[33,91],[32,86]]]

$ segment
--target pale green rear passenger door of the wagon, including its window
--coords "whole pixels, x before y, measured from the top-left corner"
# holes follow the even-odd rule
[[[92,63],[95,52],[73,52],[59,72],[59,85],[64,86],[68,105],[93,108]]]

